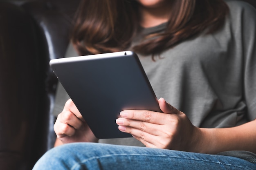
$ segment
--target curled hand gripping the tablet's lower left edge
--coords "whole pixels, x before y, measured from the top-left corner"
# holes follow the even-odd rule
[[[71,99],[67,100],[63,111],[58,115],[54,131],[63,144],[98,141]]]

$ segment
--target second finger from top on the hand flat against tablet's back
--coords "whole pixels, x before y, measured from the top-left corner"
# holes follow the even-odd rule
[[[123,117],[118,118],[116,120],[117,125],[119,126],[126,126],[126,127],[131,127],[135,129],[139,129],[141,131],[147,132],[151,135],[159,136],[160,135],[160,130],[163,129],[163,125],[158,125],[158,124],[151,124],[145,121],[137,121],[137,120],[132,120],[132,119],[125,119]]]

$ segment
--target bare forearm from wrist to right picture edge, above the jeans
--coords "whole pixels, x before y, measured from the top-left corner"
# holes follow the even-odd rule
[[[256,120],[233,128],[199,128],[195,152],[216,154],[228,150],[256,153]]]

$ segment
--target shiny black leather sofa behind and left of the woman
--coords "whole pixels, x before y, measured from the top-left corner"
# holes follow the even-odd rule
[[[30,170],[53,147],[57,79],[49,60],[65,55],[79,1],[0,1],[1,170]]]

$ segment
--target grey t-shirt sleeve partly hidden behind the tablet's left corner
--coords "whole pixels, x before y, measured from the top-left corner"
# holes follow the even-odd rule
[[[66,55],[65,57],[75,57],[78,56],[78,53],[70,43],[67,47]],[[61,85],[61,83],[58,82],[57,89],[56,89],[56,95],[55,95],[55,102],[54,102],[54,108],[52,114],[57,117],[59,113],[62,112],[65,103],[67,100],[70,99],[69,95]]]

